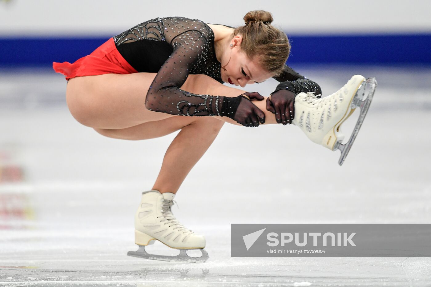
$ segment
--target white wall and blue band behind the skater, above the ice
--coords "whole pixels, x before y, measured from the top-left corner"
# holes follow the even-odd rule
[[[429,65],[429,1],[395,5],[354,1],[128,1],[2,0],[2,65],[75,61],[107,38],[148,19],[184,16],[206,23],[244,25],[251,10],[272,12],[292,41],[289,63]]]

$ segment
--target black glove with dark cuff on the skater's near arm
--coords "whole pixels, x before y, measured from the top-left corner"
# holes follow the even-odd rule
[[[263,99],[264,97],[257,92],[244,93],[238,97],[223,97],[220,115],[246,127],[258,127],[259,123],[265,123],[265,113],[251,101]]]

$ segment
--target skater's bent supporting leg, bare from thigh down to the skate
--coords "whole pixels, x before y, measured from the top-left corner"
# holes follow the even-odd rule
[[[225,122],[214,117],[176,116],[117,130],[98,129],[107,137],[125,140],[145,140],[181,131],[170,144],[162,162],[159,176],[152,189],[160,193],[176,193],[203,154],[219,134]]]

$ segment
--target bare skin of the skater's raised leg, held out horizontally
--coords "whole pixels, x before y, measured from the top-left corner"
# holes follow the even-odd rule
[[[106,74],[69,80],[66,100],[75,119],[83,125],[101,129],[122,129],[175,115],[150,111],[145,107],[147,90],[155,73]],[[237,97],[244,91],[220,84],[206,75],[189,75],[181,87],[195,94]],[[266,110],[266,98],[253,103],[265,113],[265,124],[275,124],[274,114]],[[214,118],[240,125],[228,117]]]

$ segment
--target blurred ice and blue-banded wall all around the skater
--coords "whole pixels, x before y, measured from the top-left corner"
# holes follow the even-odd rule
[[[430,222],[430,6],[0,0],[0,284],[431,286],[428,258],[244,259],[230,257],[229,243],[231,223]],[[319,83],[323,96],[352,75],[377,78],[346,162],[338,166],[338,151],[309,142],[294,126],[226,124],[178,191],[180,208],[174,206],[185,226],[206,236],[209,271],[125,256],[135,249],[140,193],[153,186],[178,132],[126,141],[80,125],[52,62],[74,62],[156,17],[238,26],[258,9],[272,12],[272,24],[289,36],[287,64]],[[276,85],[245,90],[267,96]],[[354,123],[351,117],[346,134]]]

